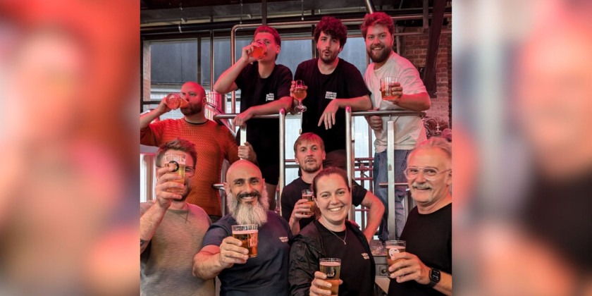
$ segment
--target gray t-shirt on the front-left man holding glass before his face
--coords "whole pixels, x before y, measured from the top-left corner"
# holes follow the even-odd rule
[[[154,202],[140,204],[144,212]],[[214,295],[214,280],[192,274],[193,256],[202,249],[211,221],[199,206],[168,209],[159,228],[140,254],[140,295]]]

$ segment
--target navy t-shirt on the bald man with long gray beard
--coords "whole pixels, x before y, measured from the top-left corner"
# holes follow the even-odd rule
[[[227,214],[212,224],[204,237],[206,245],[220,246],[222,240],[232,235],[235,218]],[[245,264],[234,264],[224,269],[218,278],[221,281],[220,295],[288,295],[288,264],[292,239],[290,226],[276,212],[267,211],[267,223],[259,228],[257,257],[247,259]]]

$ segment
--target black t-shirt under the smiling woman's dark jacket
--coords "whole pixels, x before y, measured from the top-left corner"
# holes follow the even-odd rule
[[[325,255],[329,258],[341,259],[340,279],[343,280],[343,284],[339,285],[339,295],[374,295],[374,278],[370,276],[372,268],[370,255],[366,253],[362,242],[352,230],[346,227],[345,231],[331,233],[319,223]],[[343,244],[344,238],[347,245]]]

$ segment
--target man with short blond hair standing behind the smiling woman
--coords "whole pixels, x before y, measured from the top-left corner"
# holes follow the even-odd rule
[[[280,201],[283,218],[290,224],[292,233],[297,234],[314,220],[314,215],[304,214],[310,212],[310,206],[306,199],[302,199],[302,190],[310,189],[314,177],[323,170],[322,162],[326,155],[323,140],[312,132],[305,132],[294,144],[294,155],[296,164],[302,170],[302,177],[284,187]],[[359,185],[352,187],[352,204],[362,204],[369,210],[368,223],[363,232],[370,242],[381,223],[384,205],[376,195]]]

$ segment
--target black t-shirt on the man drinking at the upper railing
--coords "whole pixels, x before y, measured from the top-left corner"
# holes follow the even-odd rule
[[[240,88],[240,112],[249,107],[267,104],[282,97],[290,97],[292,71],[286,66],[276,65],[268,78],[259,77],[259,62],[247,65],[235,80]],[[244,142],[244,141],[242,141]],[[247,121],[247,142],[255,153],[259,164],[279,164],[280,128],[278,119],[249,119]],[[242,144],[240,133],[237,144]]]

